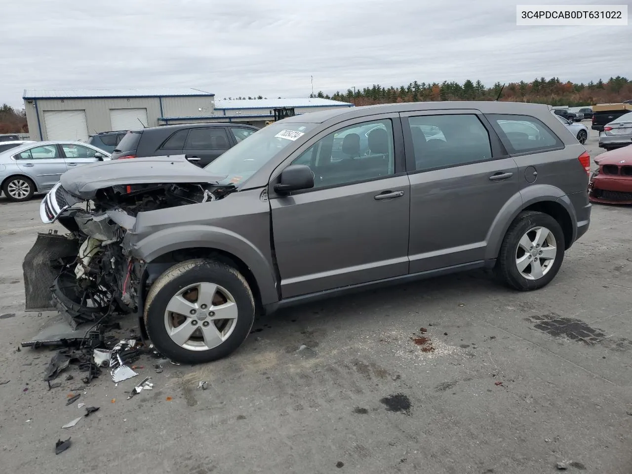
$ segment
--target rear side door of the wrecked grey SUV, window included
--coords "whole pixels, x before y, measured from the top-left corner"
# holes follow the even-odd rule
[[[475,110],[402,113],[410,178],[411,274],[482,263],[518,167]]]

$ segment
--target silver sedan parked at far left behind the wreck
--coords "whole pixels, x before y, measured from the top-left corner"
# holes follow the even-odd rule
[[[24,142],[0,150],[0,188],[9,200],[26,201],[33,193],[51,190],[68,169],[109,159],[107,152],[87,143]]]

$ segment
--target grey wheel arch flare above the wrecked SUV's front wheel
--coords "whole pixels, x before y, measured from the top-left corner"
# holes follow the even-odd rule
[[[262,304],[279,300],[274,269],[264,254],[252,242],[228,229],[204,225],[162,229],[131,243],[128,250],[133,257],[150,263],[174,250],[200,247],[221,250],[243,261],[257,281]]]

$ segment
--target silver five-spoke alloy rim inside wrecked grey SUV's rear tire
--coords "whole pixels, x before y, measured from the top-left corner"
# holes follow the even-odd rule
[[[516,267],[521,276],[537,280],[545,276],[557,257],[557,242],[554,234],[545,227],[534,227],[526,231],[516,248]]]

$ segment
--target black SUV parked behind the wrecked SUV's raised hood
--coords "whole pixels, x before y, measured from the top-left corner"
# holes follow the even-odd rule
[[[114,149],[112,159],[185,155],[188,161],[206,166],[257,130],[241,123],[181,123],[131,130]]]

